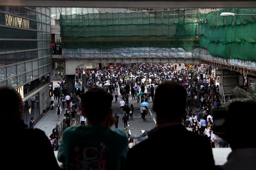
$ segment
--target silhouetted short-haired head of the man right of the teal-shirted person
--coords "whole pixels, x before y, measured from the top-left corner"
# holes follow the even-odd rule
[[[175,96],[166,98],[166,96]],[[186,90],[174,82],[164,82],[155,90],[153,110],[168,122],[180,119],[186,112]],[[171,106],[171,107],[169,107]]]

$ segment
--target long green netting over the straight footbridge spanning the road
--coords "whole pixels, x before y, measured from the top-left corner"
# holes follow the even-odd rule
[[[64,48],[198,47],[196,10],[61,15]]]

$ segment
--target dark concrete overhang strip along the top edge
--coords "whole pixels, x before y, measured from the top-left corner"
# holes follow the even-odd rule
[[[253,8],[255,0],[1,0],[1,6],[109,8]]]

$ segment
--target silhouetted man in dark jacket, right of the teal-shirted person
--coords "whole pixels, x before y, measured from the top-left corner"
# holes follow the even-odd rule
[[[175,97],[165,100],[166,96]],[[186,130],[181,123],[186,112],[186,96],[186,90],[174,82],[158,86],[153,102],[157,127],[149,132],[148,139],[128,151],[125,169],[177,169],[185,166],[184,159],[187,159],[190,170],[198,169],[197,165],[193,165],[198,157],[192,154],[198,147],[207,157],[200,161],[200,167],[215,168],[207,138]],[[169,140],[166,140],[167,136]],[[153,161],[148,162],[150,158]]]

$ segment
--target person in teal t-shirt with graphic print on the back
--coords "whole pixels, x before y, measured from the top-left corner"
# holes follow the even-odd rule
[[[104,99],[100,107],[95,102],[99,96]],[[87,118],[87,126],[67,128],[58,150],[58,160],[65,163],[66,169],[119,170],[123,167],[128,139],[122,130],[110,129],[116,121],[112,100],[112,95],[101,88],[92,88],[83,94],[82,114]]]

